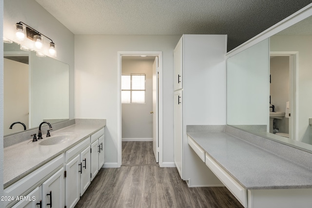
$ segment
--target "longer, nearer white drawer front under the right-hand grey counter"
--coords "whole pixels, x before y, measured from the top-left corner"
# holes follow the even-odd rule
[[[238,184],[222,167],[206,154],[206,165],[215,173],[220,181],[232,192],[236,199],[246,208],[247,190]]]

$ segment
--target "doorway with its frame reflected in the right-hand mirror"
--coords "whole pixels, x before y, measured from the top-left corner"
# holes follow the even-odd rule
[[[298,52],[293,51],[270,52],[270,101],[275,112],[285,112],[277,119],[270,116],[270,129],[274,131],[270,132],[278,131],[280,135],[293,140],[298,139],[297,56]]]

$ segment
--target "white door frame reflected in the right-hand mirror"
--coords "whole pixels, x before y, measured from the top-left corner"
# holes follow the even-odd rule
[[[298,83],[299,83],[299,52],[298,51],[270,51],[270,56],[288,56],[289,57],[289,100],[292,102],[292,107],[290,109],[291,116],[289,120],[290,129],[290,138],[292,140],[299,139],[299,109],[298,109]]]

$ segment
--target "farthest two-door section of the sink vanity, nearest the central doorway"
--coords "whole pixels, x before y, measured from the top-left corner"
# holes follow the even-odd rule
[[[104,165],[104,128],[91,135],[91,181]]]

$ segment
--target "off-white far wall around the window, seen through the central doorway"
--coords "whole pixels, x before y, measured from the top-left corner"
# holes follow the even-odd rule
[[[122,139],[153,138],[153,63],[122,58],[122,73],[145,74],[145,103],[122,104]]]

